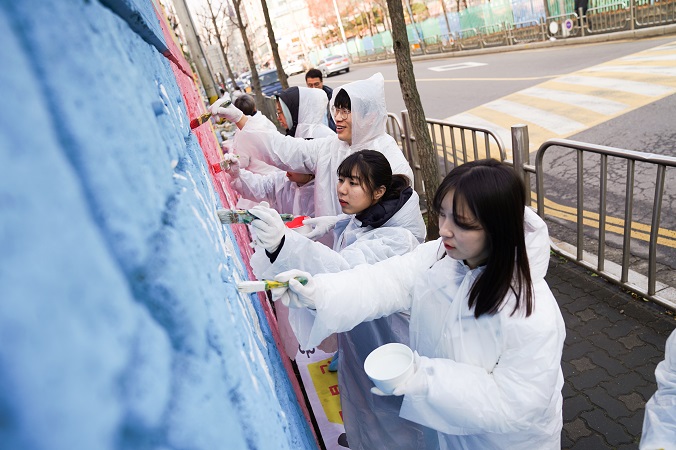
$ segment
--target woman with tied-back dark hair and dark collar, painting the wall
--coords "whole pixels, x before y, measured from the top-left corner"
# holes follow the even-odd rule
[[[251,258],[258,279],[270,279],[291,268],[312,274],[338,272],[410,252],[424,234],[419,198],[408,178],[392,175],[385,156],[373,150],[351,154],[338,168],[337,194],[344,215],[334,228],[330,250],[288,230],[274,209],[250,210],[251,223],[262,244]],[[285,309],[284,305],[279,305]],[[303,320],[304,310],[288,311],[291,321]],[[309,313],[307,313],[309,314]],[[288,322],[285,322],[285,324]],[[430,449],[424,438],[432,430],[399,418],[401,399],[375,397],[362,370],[371,351],[388,342],[408,344],[407,312],[357,325],[338,334],[338,388],[347,443],[351,449]],[[310,347],[307,347],[310,348]],[[298,348],[294,348],[293,354]]]

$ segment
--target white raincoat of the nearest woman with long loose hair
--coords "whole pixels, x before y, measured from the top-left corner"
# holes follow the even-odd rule
[[[294,331],[312,346],[410,308],[410,345],[421,358],[406,384],[401,417],[437,430],[444,449],[560,449],[565,329],[544,280],[547,226],[529,208],[524,220],[530,317],[512,315],[510,292],[498,313],[474,318],[467,299],[483,267],[470,270],[449,258],[439,239],[372,266],[314,277],[312,329]]]

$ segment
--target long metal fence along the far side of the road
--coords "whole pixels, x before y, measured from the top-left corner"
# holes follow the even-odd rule
[[[556,25],[552,25],[555,23]],[[411,42],[411,55],[519,45],[612,33],[676,23],[676,0],[620,0],[616,3],[543,18],[541,22],[501,23],[453,31]],[[391,47],[351,53],[354,63],[394,59]]]

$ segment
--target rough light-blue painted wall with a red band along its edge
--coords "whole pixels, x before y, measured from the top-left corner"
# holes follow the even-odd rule
[[[3,0],[0,42],[0,447],[314,448],[153,2]]]

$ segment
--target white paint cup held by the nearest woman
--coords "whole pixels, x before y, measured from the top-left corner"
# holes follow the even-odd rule
[[[404,344],[381,345],[364,361],[364,371],[378,389],[391,394],[398,384],[413,375],[413,351]]]

